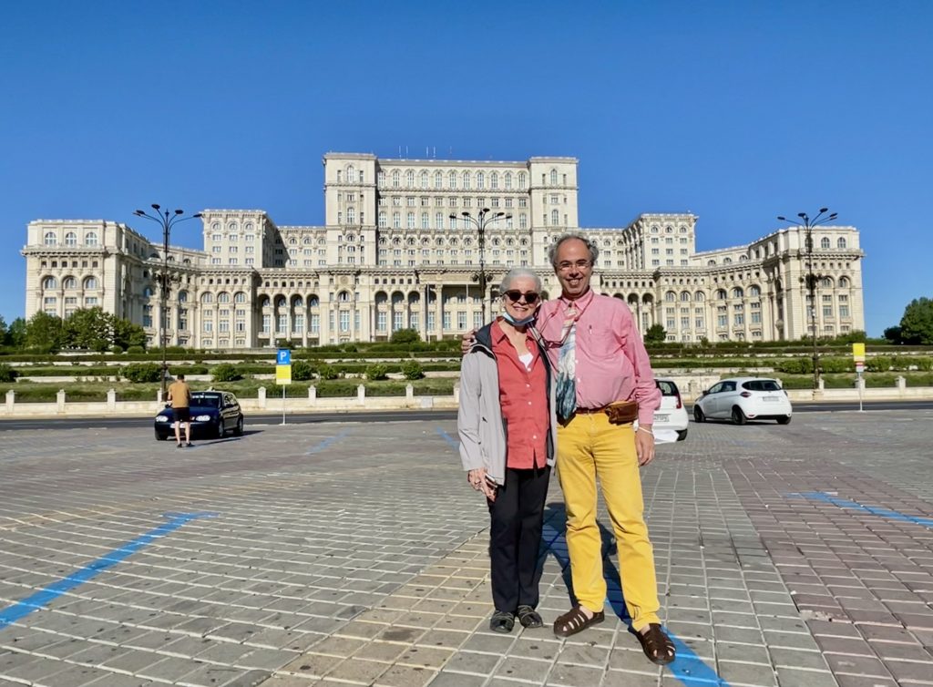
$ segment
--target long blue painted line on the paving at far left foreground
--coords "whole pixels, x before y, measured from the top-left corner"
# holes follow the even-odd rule
[[[130,557],[132,554],[135,554],[137,551],[143,547],[151,544],[153,541],[158,540],[160,537],[164,537],[174,530],[178,529],[181,526],[187,525],[192,520],[198,520],[200,518],[210,518],[216,517],[216,513],[212,512],[170,512],[165,513],[165,517],[168,518],[168,522],[164,525],[160,525],[155,529],[151,529],[146,534],[141,537],[127,542],[118,549],[114,549],[108,554],[104,554],[97,560],[91,562],[84,568],[80,568],[77,572],[69,575],[58,582],[52,582],[48,587],[36,592],[32,596],[27,596],[21,601],[8,606],[4,610],[0,610],[0,630],[7,627],[7,625],[16,623],[21,618],[29,615],[35,610],[42,609],[49,605],[59,596],[62,596],[66,592],[70,592],[75,587],[88,582],[92,578],[96,577],[100,573],[104,572],[107,568],[112,568],[116,566],[121,561]]]

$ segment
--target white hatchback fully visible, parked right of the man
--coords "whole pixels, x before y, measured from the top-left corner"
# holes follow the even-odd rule
[[[736,425],[745,425],[747,420],[777,420],[779,425],[787,425],[792,413],[787,391],[776,379],[765,377],[723,379],[693,403],[697,422],[723,417]]]

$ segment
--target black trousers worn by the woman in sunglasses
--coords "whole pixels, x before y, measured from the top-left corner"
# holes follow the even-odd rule
[[[495,610],[515,612],[519,606],[535,608],[541,568],[537,565],[548,498],[550,466],[506,470],[506,484],[494,501],[487,501],[492,519],[489,558]]]

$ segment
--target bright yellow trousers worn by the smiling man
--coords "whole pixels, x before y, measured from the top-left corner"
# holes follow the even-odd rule
[[[632,425],[610,425],[606,414],[578,414],[557,428],[557,474],[567,509],[567,549],[574,593],[603,610],[602,540],[596,523],[596,477],[603,489],[619,551],[625,605],[635,629],[658,619],[654,554],[648,540]]]

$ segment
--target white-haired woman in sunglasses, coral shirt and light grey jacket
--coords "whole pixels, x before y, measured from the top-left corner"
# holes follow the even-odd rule
[[[494,632],[541,627],[538,547],[557,444],[553,375],[529,325],[541,280],[516,268],[499,287],[503,314],[476,332],[460,372],[460,456],[469,484],[486,497]]]

